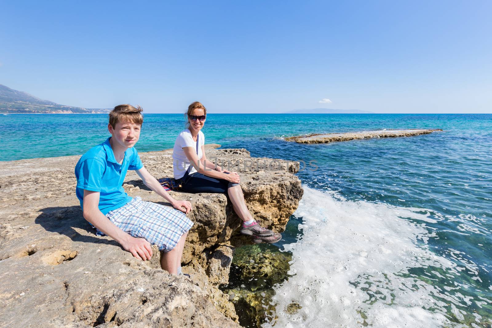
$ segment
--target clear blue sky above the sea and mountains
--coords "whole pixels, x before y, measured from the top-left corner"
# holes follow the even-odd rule
[[[178,113],[199,100],[211,113],[492,113],[490,0],[0,8],[0,84],[63,105]]]

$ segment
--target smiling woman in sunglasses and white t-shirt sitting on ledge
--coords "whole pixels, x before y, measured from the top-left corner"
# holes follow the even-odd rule
[[[205,106],[195,101],[188,106],[185,115],[187,128],[176,138],[173,149],[174,179],[181,184],[183,191],[227,194],[234,211],[243,220],[240,230],[242,234],[251,236],[256,243],[274,243],[280,240],[282,235],[262,228],[251,216],[243,190],[239,185],[241,181],[239,175],[236,172],[222,170],[220,166],[215,166],[207,160],[204,148],[205,136],[201,131],[207,116]]]

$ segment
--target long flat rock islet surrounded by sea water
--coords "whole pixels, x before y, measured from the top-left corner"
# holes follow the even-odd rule
[[[325,144],[336,141],[348,141],[357,139],[410,137],[420,134],[428,134],[434,131],[442,131],[442,129],[378,130],[366,132],[310,134],[307,136],[288,137],[285,138],[285,140],[295,141],[300,144]]]

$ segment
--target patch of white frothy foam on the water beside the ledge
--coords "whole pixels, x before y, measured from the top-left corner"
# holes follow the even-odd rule
[[[427,240],[435,235],[426,226],[433,221],[422,214],[426,210],[304,191],[295,213],[305,220],[304,235],[286,245],[294,276],[274,287],[277,313],[263,327],[461,327],[444,314],[447,306],[461,317],[455,304],[468,298],[408,274],[408,268],[428,266],[460,274],[454,262],[429,249]],[[293,303],[301,308],[292,311],[298,307]]]

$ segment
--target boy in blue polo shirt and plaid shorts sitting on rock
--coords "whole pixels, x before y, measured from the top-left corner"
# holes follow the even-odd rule
[[[142,111],[140,106],[125,104],[109,113],[111,137],[82,155],[75,166],[77,198],[97,235],[108,235],[144,261],[152,257],[151,243],[156,244],[161,268],[179,274],[184,241],[193,225],[184,215],[191,203],[171,197],[147,172],[133,148],[144,121]],[[122,186],[127,170],[135,170],[147,187],[175,209],[129,197]]]

